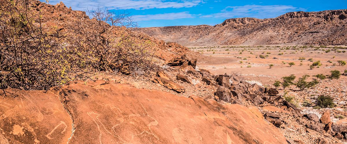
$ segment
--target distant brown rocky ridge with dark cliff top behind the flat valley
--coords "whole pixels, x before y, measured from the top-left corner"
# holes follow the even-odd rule
[[[215,26],[150,27],[138,31],[184,46],[347,45],[347,10],[298,11],[269,19],[227,19]]]

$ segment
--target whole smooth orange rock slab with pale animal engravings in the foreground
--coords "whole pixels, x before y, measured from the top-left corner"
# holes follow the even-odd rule
[[[0,142],[286,143],[255,107],[88,85],[70,85],[78,93],[67,94],[67,103],[56,91],[9,90],[18,97],[0,99]]]

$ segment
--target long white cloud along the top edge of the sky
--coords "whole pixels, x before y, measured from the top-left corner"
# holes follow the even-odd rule
[[[44,0],[41,0],[44,1]],[[50,4],[59,3],[61,0],[50,0]],[[203,3],[203,0],[63,0],[67,7],[73,10],[85,10],[95,7],[108,8],[109,10],[120,9],[153,9],[153,8],[190,8]]]

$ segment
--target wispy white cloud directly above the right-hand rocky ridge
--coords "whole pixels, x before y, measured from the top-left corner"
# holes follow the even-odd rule
[[[286,5],[245,5],[226,7],[220,13],[201,16],[201,18],[240,18],[240,17],[255,17],[255,18],[273,18],[292,11],[305,11],[304,8],[297,8]]]

